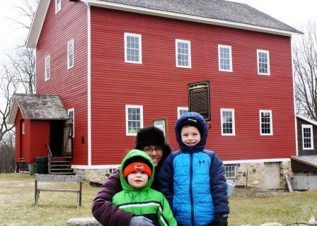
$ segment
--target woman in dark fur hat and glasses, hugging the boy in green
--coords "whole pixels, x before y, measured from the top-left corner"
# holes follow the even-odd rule
[[[154,162],[156,168],[151,188],[156,189],[156,175],[167,155],[171,153],[171,148],[166,143],[163,131],[154,126],[140,129],[135,143],[135,148],[143,150]],[[103,225],[109,226],[151,225],[144,217],[137,217],[133,213],[122,211],[111,202],[113,196],[119,191],[122,191],[120,168],[115,169],[113,174],[108,177],[93,200],[93,216]]]

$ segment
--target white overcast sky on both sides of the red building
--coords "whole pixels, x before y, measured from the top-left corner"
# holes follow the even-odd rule
[[[22,44],[25,30],[17,29],[17,25],[8,18],[18,18],[13,7],[20,0],[0,0],[0,59],[1,54],[12,52],[14,47]],[[195,0],[192,0],[195,1]],[[231,0],[248,4],[268,15],[301,30],[301,25],[309,20],[317,21],[317,0]]]

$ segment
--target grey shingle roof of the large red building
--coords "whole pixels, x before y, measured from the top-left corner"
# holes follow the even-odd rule
[[[245,23],[265,28],[301,33],[299,30],[258,11],[247,4],[223,0],[100,0],[138,6],[143,8],[183,13],[190,16],[200,16],[236,23]]]

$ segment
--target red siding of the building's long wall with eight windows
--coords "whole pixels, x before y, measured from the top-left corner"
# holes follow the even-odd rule
[[[125,63],[124,32],[142,35],[142,64]],[[175,67],[175,39],[191,41],[192,69]],[[232,47],[233,73],[218,70],[218,44]],[[270,51],[270,76],[258,76],[256,49]],[[134,147],[125,105],[143,105],[144,126],[167,117],[176,150],[177,107],[197,81],[210,81],[207,148],[223,160],[296,154],[289,37],[91,7],[92,164],[119,164]],[[236,136],[221,136],[221,108],[235,109]],[[259,109],[272,109],[273,136],[260,136]]]

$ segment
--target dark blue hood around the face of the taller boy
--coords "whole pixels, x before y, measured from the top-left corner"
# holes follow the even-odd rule
[[[188,119],[197,120],[197,123],[200,124],[201,126],[200,143],[197,143],[197,145],[193,147],[189,147],[188,145],[185,145],[185,143],[183,143],[182,141],[182,138],[180,137],[180,129],[181,129],[180,125],[183,124],[183,121],[186,121]],[[197,152],[204,149],[204,146],[206,145],[207,134],[208,134],[208,128],[207,128],[206,121],[204,121],[204,118],[196,112],[188,112],[186,114],[183,114],[183,116],[180,117],[178,121],[176,121],[176,124],[175,124],[176,140],[178,142],[180,149],[183,151]]]

